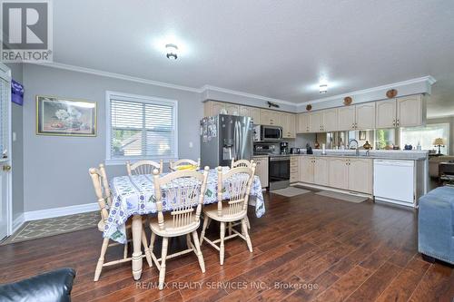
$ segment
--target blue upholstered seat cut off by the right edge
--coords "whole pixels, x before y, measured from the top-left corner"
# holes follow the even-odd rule
[[[439,187],[419,199],[419,253],[454,264],[454,188]]]

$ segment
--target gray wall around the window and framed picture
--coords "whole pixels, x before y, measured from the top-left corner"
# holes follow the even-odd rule
[[[178,141],[181,158],[200,154],[200,93],[25,64],[24,206],[25,211],[94,202],[88,169],[105,160],[105,91],[134,93],[178,101]],[[97,102],[98,132],[94,138],[35,134],[35,95],[55,95]],[[193,147],[189,148],[190,141]],[[109,177],[124,175],[125,167],[107,166]]]

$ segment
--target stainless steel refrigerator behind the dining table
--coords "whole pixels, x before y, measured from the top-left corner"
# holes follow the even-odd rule
[[[229,166],[232,159],[252,159],[252,119],[224,115],[205,117],[201,121],[202,167]]]

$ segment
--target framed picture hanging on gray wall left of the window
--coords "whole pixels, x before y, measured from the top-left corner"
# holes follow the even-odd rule
[[[96,102],[36,95],[36,134],[96,136]]]

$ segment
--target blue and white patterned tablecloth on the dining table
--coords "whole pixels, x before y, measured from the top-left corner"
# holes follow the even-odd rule
[[[217,202],[217,181],[217,171],[210,170],[203,204]],[[150,174],[119,176],[111,180],[110,186],[113,201],[103,236],[104,238],[125,243],[126,229],[124,223],[128,218],[133,215],[157,212],[156,203],[154,202],[153,176]],[[255,198],[255,215],[260,218],[265,213],[265,204],[262,195],[262,185],[258,176],[254,176],[251,196]],[[230,198],[229,190],[224,192],[223,198]],[[163,196],[163,209],[173,209],[171,202],[166,202],[165,196]]]

